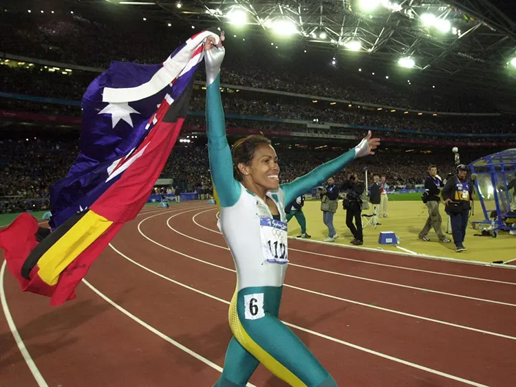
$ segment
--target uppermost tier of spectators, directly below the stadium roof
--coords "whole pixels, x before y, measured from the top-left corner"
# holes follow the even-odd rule
[[[103,15],[89,18],[76,12],[56,14],[13,13],[3,15],[10,28],[4,28],[2,50],[25,57],[54,60],[61,63],[105,69],[113,60],[129,60],[137,63],[162,63],[175,47],[198,31],[177,31],[165,24],[151,21],[116,21]],[[138,30],[138,34],[134,34]],[[149,38],[166,36],[166,38]],[[253,43],[258,47],[258,42]],[[224,60],[224,82],[231,85],[258,87],[305,93],[312,96],[341,98],[354,102],[371,102],[388,106],[437,110],[437,111],[495,111],[485,96],[471,95],[455,90],[449,97],[443,90],[433,92],[431,86],[422,91],[408,83],[396,85],[385,77],[374,78],[356,66],[339,67],[326,61],[303,56],[281,54],[281,50],[248,49],[248,43],[240,38],[232,41],[228,36],[225,43],[230,49]],[[292,71],[292,62],[295,70]],[[319,65],[317,65],[319,63]],[[202,74],[199,75],[202,79]],[[91,78],[91,77],[90,77]],[[75,82],[75,80],[74,80]],[[30,88],[31,85],[28,85]],[[34,87],[37,89],[38,86]],[[74,98],[80,97],[80,88]]]

